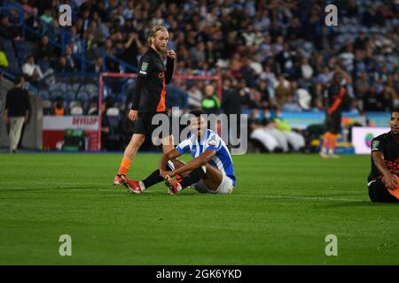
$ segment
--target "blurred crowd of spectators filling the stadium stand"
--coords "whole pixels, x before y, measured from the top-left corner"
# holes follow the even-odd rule
[[[231,113],[241,107],[324,111],[324,87],[337,71],[344,73],[352,98],[348,111],[399,106],[395,1],[329,1],[339,7],[339,27],[325,25],[325,1],[317,0],[63,2],[72,6],[74,20],[62,54],[49,44],[49,39],[59,42],[65,28],[59,27],[58,1],[20,2],[27,26],[46,34],[36,42],[33,57],[22,62],[29,80],[41,80],[49,70],[81,70],[74,55],[82,52],[90,62],[87,72],[121,72],[121,65],[102,52],[137,67],[148,30],[163,25],[169,31],[168,47],[178,57],[176,73],[223,74],[222,102],[205,85],[179,86],[188,95],[186,107],[210,105],[209,111]],[[0,36],[33,41],[12,26],[14,18],[2,14]]]

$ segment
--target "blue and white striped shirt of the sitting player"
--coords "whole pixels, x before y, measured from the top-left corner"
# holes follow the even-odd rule
[[[226,174],[233,181],[233,186],[236,186],[231,154],[226,144],[215,132],[208,129],[201,141],[198,141],[197,135],[191,134],[188,139],[180,142],[176,149],[181,154],[190,150],[192,158],[199,157],[207,149],[215,150],[215,156],[208,163]]]

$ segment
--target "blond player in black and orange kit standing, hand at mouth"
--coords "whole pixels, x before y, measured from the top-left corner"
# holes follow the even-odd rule
[[[126,175],[129,172],[133,158],[137,150],[145,142],[145,137],[151,136],[158,125],[153,125],[153,117],[157,114],[167,115],[166,111],[166,85],[172,80],[176,53],[168,50],[168,30],[162,26],[153,27],[148,42],[150,47],[141,57],[136,81],[136,89],[133,95],[129,119],[135,121],[134,134],[126,147],[118,173],[113,180],[114,185],[125,185],[129,188],[129,180]],[[167,56],[166,66],[162,56]],[[167,153],[173,146],[173,136],[169,132],[162,136],[162,149]],[[173,168],[169,168],[172,169]]]

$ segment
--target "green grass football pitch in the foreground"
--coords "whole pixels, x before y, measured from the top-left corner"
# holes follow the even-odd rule
[[[129,176],[159,157],[139,154]],[[370,203],[370,157],[235,156],[232,195],[176,196],[113,187],[120,159],[0,155],[0,264],[399,264],[399,206]]]

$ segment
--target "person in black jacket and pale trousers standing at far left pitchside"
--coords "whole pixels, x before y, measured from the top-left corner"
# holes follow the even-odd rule
[[[22,126],[27,123],[30,103],[26,89],[23,89],[24,78],[17,77],[14,80],[14,88],[7,92],[5,97],[5,124],[10,124],[10,152],[17,152],[20,143]]]

